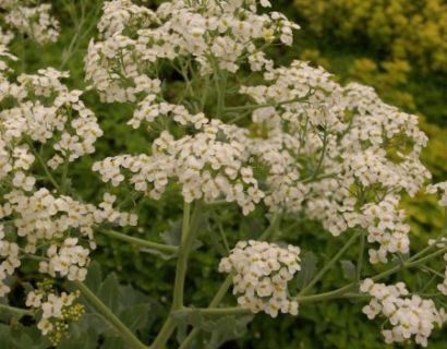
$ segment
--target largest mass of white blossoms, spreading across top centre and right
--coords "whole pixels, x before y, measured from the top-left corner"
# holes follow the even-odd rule
[[[156,12],[125,0],[105,3],[87,79],[107,101],[136,103],[133,128],[164,118],[192,125],[193,134],[165,131],[149,155],[119,155],[94,169],[114,185],[129,178],[154,198],[177,178],[188,202],[222,195],[246,214],[263,198],[270,210],[304,212],[334,236],[367,228],[370,242],[379,244],[372,262],[406,253],[408,226],[396,207],[403,191],[414,195],[431,177],[420,161],[427,137],[418,117],[384,104],[371,87],[339,85],[322,68],[301,61],[275,68],[254,43],[290,44],[297,26],[275,12],[257,14],[256,3],[174,0]],[[194,103],[167,101],[161,62],[183,77],[216,80],[222,70],[231,77],[244,64],[262,74],[262,84],[239,86],[251,104],[228,108],[237,119],[251,116],[250,127],[217,121],[231,115],[226,106],[207,115]],[[220,130],[230,132],[221,137]]]

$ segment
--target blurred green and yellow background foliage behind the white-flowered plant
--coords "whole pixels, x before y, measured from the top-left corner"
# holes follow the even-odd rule
[[[84,87],[83,56],[89,37],[95,35],[95,23],[100,15],[101,1],[90,0],[84,17],[76,16],[77,1],[53,0],[53,13],[62,25],[58,43],[45,47],[16,39],[12,51],[22,58],[19,71],[34,72],[45,65],[70,70],[71,87]],[[156,7],[157,1],[141,1]],[[160,2],[160,1],[159,1]],[[276,61],[287,64],[300,58],[315,65],[323,65],[341,82],[357,81],[376,88],[380,97],[401,109],[420,116],[421,128],[427,133],[430,144],[423,153],[423,161],[435,181],[446,180],[447,174],[447,1],[445,0],[276,0],[274,9],[285,12],[301,25],[295,33],[292,48],[278,49]],[[81,25],[81,36],[73,39],[75,27]],[[69,59],[68,47],[74,45]],[[65,53],[64,53],[65,52]],[[65,56],[64,56],[65,55]],[[174,93],[174,92],[173,92]],[[145,130],[133,131],[126,124],[132,108],[125,105],[107,106],[98,101],[95,93],[86,95],[87,105],[97,113],[105,136],[97,143],[94,158],[84,159],[73,169],[72,185],[83,197],[96,201],[101,194],[98,178],[89,173],[95,159],[120,152],[144,152],[148,146]],[[119,195],[125,195],[122,189]],[[404,208],[412,226],[414,250],[426,243],[443,226],[443,213],[432,196],[416,195],[406,198]],[[137,209],[144,228],[141,237],[160,239],[159,232],[173,231],[181,217],[180,198],[176,191],[167,193],[162,202],[145,201]],[[266,226],[263,213],[239,218],[237,209],[222,208],[209,212],[213,218],[207,232],[227,231],[230,245],[246,234],[256,237]],[[209,231],[208,231],[209,230]],[[129,231],[129,233],[136,233]],[[302,222],[285,229],[280,238],[297,242],[315,254],[330,256],[343,241],[334,242],[328,233],[322,233],[316,224]],[[201,239],[201,237],[200,237]],[[159,305],[169,304],[174,264],[142,253],[137,248],[110,241],[98,234],[99,249],[95,258],[102,273],[117,272],[122,282],[133,285],[156,300]],[[202,237],[204,246],[194,252],[186,282],[186,300],[204,306],[214,296],[222,275],[217,273],[219,249],[214,238]],[[330,243],[327,243],[330,242]],[[209,253],[209,251],[216,251]],[[349,258],[350,255],[346,256]],[[351,256],[354,258],[354,254]],[[322,265],[324,261],[319,261]],[[367,270],[366,270],[367,272]],[[426,279],[402,274],[411,285],[423,285]],[[401,276],[402,276],[401,275]],[[325,278],[324,289],[343,285],[338,268]],[[232,298],[227,300],[231,304]],[[164,304],[166,303],[166,304]],[[367,321],[361,313],[363,304],[338,301],[309,304],[300,308],[300,315],[257,315],[249,325],[249,334],[224,348],[295,349],[295,348],[392,348],[385,346],[379,333],[380,321]],[[156,335],[166,311],[158,306],[154,325],[141,334],[145,341]],[[171,344],[172,348],[176,347]],[[413,348],[412,345],[402,346]],[[197,348],[201,348],[198,346]],[[436,332],[428,348],[447,348],[447,332]]]

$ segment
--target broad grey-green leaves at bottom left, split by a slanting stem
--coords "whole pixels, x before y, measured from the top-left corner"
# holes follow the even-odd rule
[[[109,273],[104,279],[98,263],[93,262],[88,268],[85,285],[106,304],[129,329],[148,340],[147,334],[152,328],[160,305],[152,298],[137,291],[132,286],[120,285],[117,274]],[[67,285],[70,289],[71,285]],[[106,349],[126,348],[128,344],[120,337],[110,324],[98,314],[83,298],[86,313],[81,321],[70,325],[69,335],[62,339],[57,348],[60,349]],[[1,348],[8,349],[47,349],[51,345],[39,329],[34,326],[29,316],[10,318],[10,325],[0,324]]]

